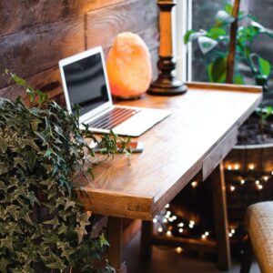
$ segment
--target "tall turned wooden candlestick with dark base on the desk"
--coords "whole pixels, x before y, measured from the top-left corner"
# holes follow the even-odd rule
[[[159,60],[157,62],[159,74],[157,80],[150,85],[147,93],[159,96],[181,95],[187,92],[187,86],[177,80],[174,75],[177,63],[173,54],[172,43],[171,11],[177,3],[174,0],[158,0],[157,5],[160,9],[160,45]]]

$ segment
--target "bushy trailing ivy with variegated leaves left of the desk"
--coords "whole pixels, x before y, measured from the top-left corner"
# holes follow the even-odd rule
[[[75,173],[96,157],[86,138],[98,140],[88,126],[79,129],[78,108],[72,115],[5,73],[33,106],[0,98],[0,272],[115,272],[104,234],[90,238],[92,223],[73,185]],[[113,157],[117,141],[125,147],[113,133],[102,136],[101,152]]]

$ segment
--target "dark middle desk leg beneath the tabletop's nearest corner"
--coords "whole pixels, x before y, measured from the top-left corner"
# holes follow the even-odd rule
[[[152,258],[152,243],[153,236],[153,222],[142,221],[141,240],[140,240],[140,258],[143,261],[148,261]]]

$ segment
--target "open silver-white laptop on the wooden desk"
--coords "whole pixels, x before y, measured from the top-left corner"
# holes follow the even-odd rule
[[[80,106],[79,123],[95,133],[140,136],[170,115],[162,109],[114,106],[101,46],[59,61],[67,109]]]

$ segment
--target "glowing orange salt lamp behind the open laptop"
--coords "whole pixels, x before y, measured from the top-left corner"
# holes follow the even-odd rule
[[[151,57],[144,41],[126,32],[116,36],[106,61],[113,96],[133,98],[144,94],[152,80]]]

